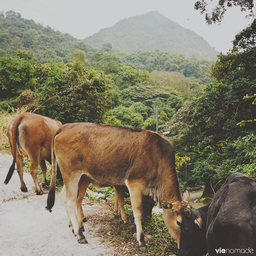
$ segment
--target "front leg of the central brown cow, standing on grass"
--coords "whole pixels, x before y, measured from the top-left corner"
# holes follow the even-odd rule
[[[134,221],[136,224],[136,231],[137,231],[137,241],[139,243],[139,248],[141,252],[148,252],[146,247],[146,242],[144,239],[144,234],[142,231],[141,219],[143,213],[142,207],[142,199],[143,199],[143,189],[144,187],[141,184],[129,181],[126,181],[126,186],[129,189],[131,203],[132,203],[132,210],[134,215]]]

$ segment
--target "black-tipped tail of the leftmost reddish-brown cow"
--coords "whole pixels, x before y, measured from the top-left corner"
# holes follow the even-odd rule
[[[13,157],[13,161],[12,161],[12,165],[9,169],[9,172],[6,175],[6,178],[4,180],[4,184],[8,184],[8,182],[11,180],[12,178],[12,174],[14,172],[15,169],[15,162],[16,162],[16,140],[18,141],[18,136],[19,136],[19,131],[18,131],[18,126],[20,124],[22,116],[15,118],[13,123],[12,123],[12,138],[9,138],[10,140],[12,140],[12,157]]]

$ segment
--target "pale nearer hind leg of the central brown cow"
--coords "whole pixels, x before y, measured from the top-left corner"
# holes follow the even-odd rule
[[[80,177],[76,176],[73,177],[72,180],[68,180],[68,177],[63,176],[63,181],[65,184],[65,190],[61,193],[63,202],[65,204],[68,217],[71,220],[71,224],[75,233],[75,236],[77,236],[78,243],[80,244],[87,244],[87,240],[85,239],[82,229],[79,226],[79,223],[76,218],[76,198],[78,194],[78,182],[80,180]]]

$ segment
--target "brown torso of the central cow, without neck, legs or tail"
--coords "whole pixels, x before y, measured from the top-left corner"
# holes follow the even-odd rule
[[[57,133],[54,150],[60,170],[61,165],[86,170],[86,175],[102,184],[125,185],[126,179],[141,178],[152,182],[162,160],[173,160],[172,145],[156,132],[74,123],[63,125]]]

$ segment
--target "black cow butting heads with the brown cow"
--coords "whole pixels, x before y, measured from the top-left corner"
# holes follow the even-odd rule
[[[178,224],[179,256],[203,256],[206,245],[210,256],[256,255],[256,181],[232,173],[210,206],[186,208]]]

